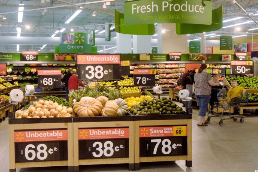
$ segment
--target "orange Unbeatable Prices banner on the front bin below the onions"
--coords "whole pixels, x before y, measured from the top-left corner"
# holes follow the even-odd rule
[[[14,142],[67,140],[67,130],[15,131]]]

